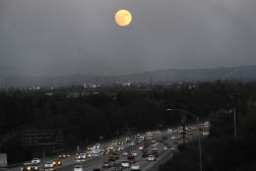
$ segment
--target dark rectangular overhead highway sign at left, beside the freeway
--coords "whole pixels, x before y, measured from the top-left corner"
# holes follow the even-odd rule
[[[35,130],[25,131],[24,145],[56,144],[63,142],[62,130]]]

